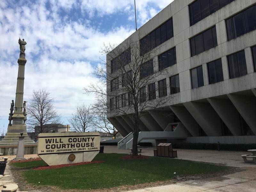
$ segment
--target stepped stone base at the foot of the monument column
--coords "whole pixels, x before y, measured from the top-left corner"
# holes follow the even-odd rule
[[[18,145],[20,133],[7,133],[6,136],[0,141],[0,146]],[[25,136],[25,145],[36,144],[33,140],[28,137],[27,133],[23,133]]]

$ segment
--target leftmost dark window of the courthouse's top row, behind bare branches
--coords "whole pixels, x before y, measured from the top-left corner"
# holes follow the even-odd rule
[[[127,65],[131,62],[131,49],[127,49],[122,52],[118,57],[111,60],[111,73],[114,73],[119,69],[121,65]]]

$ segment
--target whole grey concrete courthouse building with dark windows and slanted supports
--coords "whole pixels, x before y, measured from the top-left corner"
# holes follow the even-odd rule
[[[161,85],[154,98],[172,104],[156,111],[175,116],[147,112],[139,141],[256,143],[255,29],[256,0],[174,0],[134,32],[129,38],[160,47],[154,72],[167,68],[168,75],[146,89]],[[119,147],[130,148],[132,120],[108,119],[125,137]]]

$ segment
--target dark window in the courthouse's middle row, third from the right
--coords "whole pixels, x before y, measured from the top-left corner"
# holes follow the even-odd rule
[[[177,63],[177,61],[176,61],[176,48],[175,47],[158,56],[159,71],[164,68],[170,67],[176,63]]]

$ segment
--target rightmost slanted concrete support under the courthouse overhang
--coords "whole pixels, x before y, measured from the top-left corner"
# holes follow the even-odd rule
[[[228,94],[228,98],[256,135],[256,98],[235,94]]]

